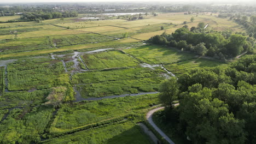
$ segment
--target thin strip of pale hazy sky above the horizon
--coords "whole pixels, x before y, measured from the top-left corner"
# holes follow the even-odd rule
[[[56,3],[56,2],[71,2],[71,3],[79,3],[79,2],[168,2],[168,3],[254,3],[256,0],[0,0],[1,3],[36,3],[36,2],[44,2],[44,3]]]

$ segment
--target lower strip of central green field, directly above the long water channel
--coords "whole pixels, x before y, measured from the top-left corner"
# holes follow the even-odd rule
[[[152,77],[131,80],[117,80],[78,85],[83,98],[106,97],[109,95],[120,95],[138,92],[156,92],[163,77]]]

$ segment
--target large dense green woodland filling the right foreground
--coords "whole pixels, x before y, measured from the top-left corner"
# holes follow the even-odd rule
[[[245,56],[228,66],[199,68],[162,82],[164,122],[176,116],[178,133],[192,143],[255,143],[255,68],[256,56]]]

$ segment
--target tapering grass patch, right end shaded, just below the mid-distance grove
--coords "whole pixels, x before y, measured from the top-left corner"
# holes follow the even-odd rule
[[[191,59],[189,61],[184,61],[180,63],[167,64],[165,65],[165,68],[178,76],[192,69],[203,67],[216,67],[222,64],[224,63],[208,59]]]

